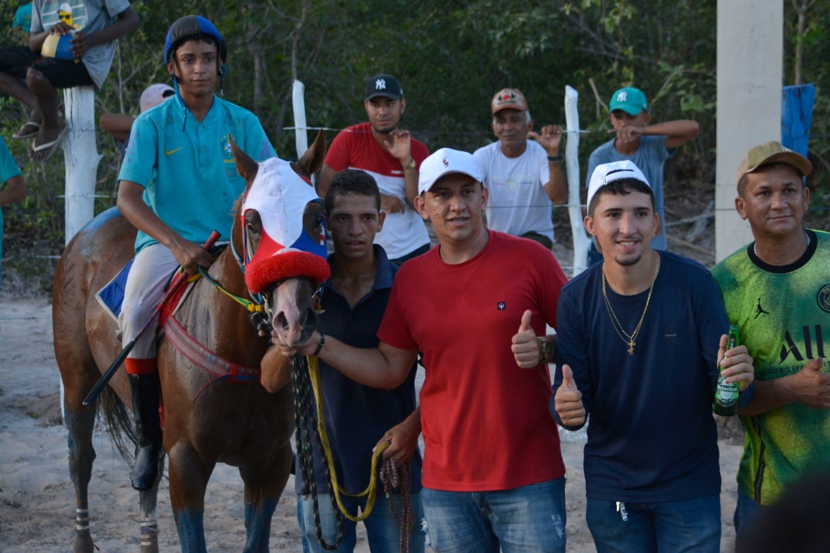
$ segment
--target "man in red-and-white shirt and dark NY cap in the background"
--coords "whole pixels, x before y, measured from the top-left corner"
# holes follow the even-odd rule
[[[380,207],[386,212],[375,244],[382,245],[389,260],[398,265],[426,253],[430,245],[427,227],[413,207],[418,167],[429,152],[408,130],[398,127],[406,107],[403,88],[393,75],[369,79],[364,100],[369,123],[353,125],[334,137],[317,182],[317,193],[325,196],[336,172],[362,169],[374,177]]]

